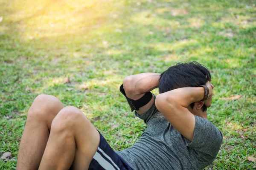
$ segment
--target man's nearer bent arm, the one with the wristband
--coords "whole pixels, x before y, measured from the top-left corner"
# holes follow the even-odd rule
[[[195,116],[187,109],[204,97],[204,88],[177,88],[157,95],[156,107],[170,124],[190,141],[195,130]]]

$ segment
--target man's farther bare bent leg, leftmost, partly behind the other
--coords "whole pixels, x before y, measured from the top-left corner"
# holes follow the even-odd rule
[[[62,103],[54,96],[41,94],[29,108],[20,141],[17,170],[37,170],[49,138],[49,130]]]

